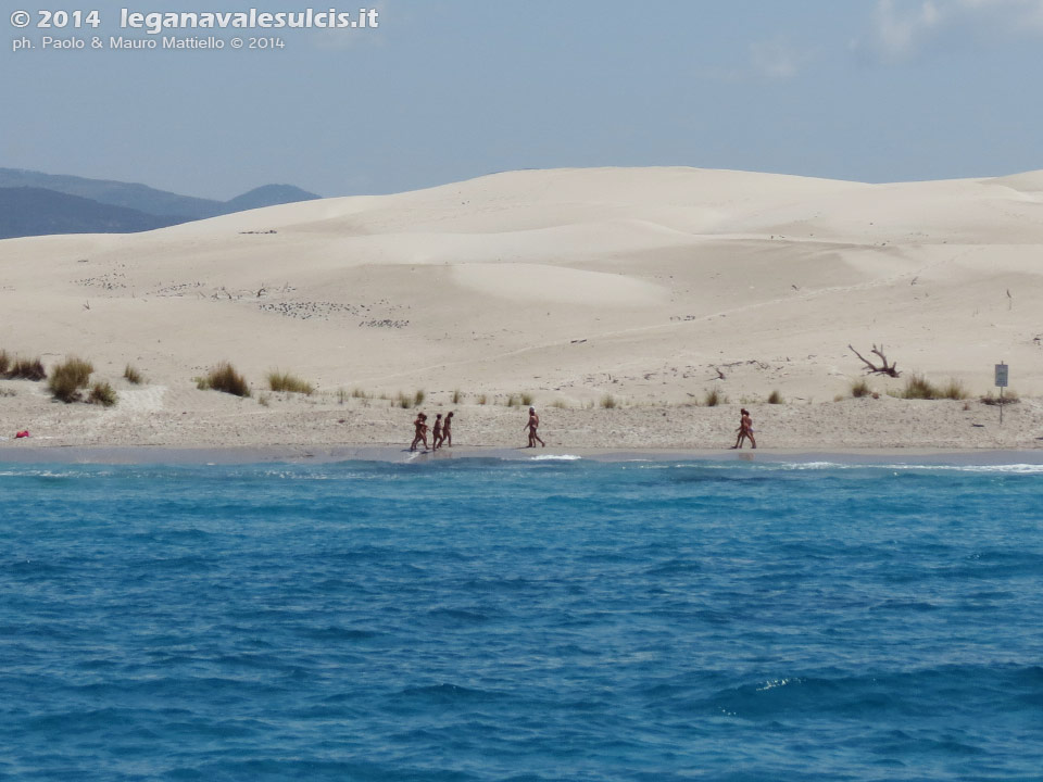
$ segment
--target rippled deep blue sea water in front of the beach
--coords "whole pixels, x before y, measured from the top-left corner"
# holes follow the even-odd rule
[[[1043,467],[0,465],[3,780],[1041,780]]]

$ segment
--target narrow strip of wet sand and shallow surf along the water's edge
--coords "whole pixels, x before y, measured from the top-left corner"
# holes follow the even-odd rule
[[[589,462],[745,462],[764,464],[843,465],[908,464],[929,466],[1043,465],[1043,449],[602,449],[602,447],[499,447],[460,445],[452,450],[410,452],[405,445],[290,445],[243,446],[84,446],[26,445],[0,449],[0,465],[7,464],[97,464],[97,465],[253,465],[332,464],[338,462],[384,462],[387,464],[436,464],[453,459]]]

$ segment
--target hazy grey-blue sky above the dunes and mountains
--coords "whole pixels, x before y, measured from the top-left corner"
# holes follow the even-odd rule
[[[352,12],[221,30],[266,51],[43,50],[137,12]],[[1043,168],[1043,0],[8,0],[0,166],[227,199],[392,192],[497,171],[690,165],[864,181]],[[167,33],[171,34],[169,31]],[[180,38],[212,35],[181,30]],[[13,51],[25,37],[33,50]]]

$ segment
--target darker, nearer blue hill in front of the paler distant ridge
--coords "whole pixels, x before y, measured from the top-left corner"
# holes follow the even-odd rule
[[[49,234],[133,234],[183,222],[43,188],[0,188],[0,239]]]

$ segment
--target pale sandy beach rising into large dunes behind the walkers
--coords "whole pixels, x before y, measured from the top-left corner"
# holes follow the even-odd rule
[[[0,453],[454,443],[1043,446],[1043,173],[897,185],[693,168],[498,174],[137,235],[0,242],[0,350],[89,360],[115,406],[0,379]],[[899,378],[849,349],[882,346]],[[239,399],[197,388],[228,361]],[[1010,365],[1020,401],[979,401]],[[125,380],[131,365],[144,378]],[[266,390],[271,370],[315,387]],[[896,399],[921,374],[966,400]],[[851,396],[866,378],[878,396]],[[704,405],[716,391],[726,401]],[[782,404],[768,404],[777,391]],[[454,399],[456,401],[454,401]],[[15,440],[29,430],[28,440]],[[284,452],[285,453],[285,452]]]

